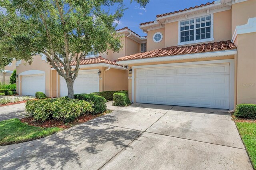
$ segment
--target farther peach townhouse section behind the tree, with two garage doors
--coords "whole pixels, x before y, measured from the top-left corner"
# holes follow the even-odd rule
[[[139,53],[141,43],[146,51],[146,39],[125,27],[116,30],[121,34],[122,50],[114,53],[88,55],[80,61],[78,77],[74,81],[74,93],[92,93],[98,91],[128,90],[128,69],[116,63],[119,57]],[[75,67],[72,61],[71,67]],[[47,97],[62,97],[68,94],[66,81],[46,61],[45,56],[36,55],[32,64],[25,61],[17,62],[17,93],[35,95],[44,92]],[[100,75],[98,75],[98,72]]]

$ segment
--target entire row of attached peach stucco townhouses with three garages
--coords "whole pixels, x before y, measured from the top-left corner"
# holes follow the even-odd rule
[[[218,0],[141,23],[145,37],[116,30],[124,35],[123,49],[83,59],[74,93],[128,89],[134,103],[229,110],[256,104],[255,9],[255,0]],[[45,58],[21,61],[17,74],[21,95],[67,95]]]

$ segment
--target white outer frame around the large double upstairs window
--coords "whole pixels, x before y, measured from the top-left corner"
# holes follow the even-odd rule
[[[202,16],[207,16],[207,15],[211,15],[211,37],[210,38],[205,38],[205,39],[201,39],[201,40],[196,40],[196,18],[198,17],[202,17]],[[214,41],[213,38],[213,14],[204,14],[204,15],[200,15],[200,16],[191,16],[186,18],[185,20],[189,20],[194,18],[194,41],[188,41],[188,42],[180,42],[180,22],[184,21],[184,19],[179,20],[179,28],[178,28],[178,45],[186,45],[186,44],[191,44],[191,43],[201,43],[201,42],[210,42],[210,41]]]

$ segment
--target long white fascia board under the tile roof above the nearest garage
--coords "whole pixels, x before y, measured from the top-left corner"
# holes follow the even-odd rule
[[[153,57],[153,58],[146,58],[146,59],[131,59],[131,60],[125,60],[125,61],[117,61],[116,63],[120,65],[128,65],[128,64],[136,64],[136,63],[151,63],[151,62],[158,62],[158,61],[173,61],[173,60],[182,60],[182,59],[221,57],[225,55],[234,55],[234,54],[237,54],[236,49],[225,50],[225,51],[214,51],[214,52],[207,52],[207,53],[171,55],[166,57]]]

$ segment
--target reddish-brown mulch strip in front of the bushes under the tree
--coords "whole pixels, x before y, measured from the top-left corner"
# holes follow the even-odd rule
[[[42,127],[42,128],[48,128],[48,127],[58,127],[58,128],[70,128],[74,125],[78,125],[80,123],[85,123],[87,121],[90,121],[91,119],[94,119],[96,117],[102,116],[102,115],[106,115],[107,113],[102,113],[102,114],[98,114],[98,115],[82,115],[78,118],[76,118],[73,122],[69,122],[69,123],[63,123],[60,120],[46,120],[44,122],[40,122],[40,121],[35,121],[33,119],[33,117],[25,117],[20,119],[20,121],[22,123],[28,123],[28,125],[34,126],[34,127]]]

